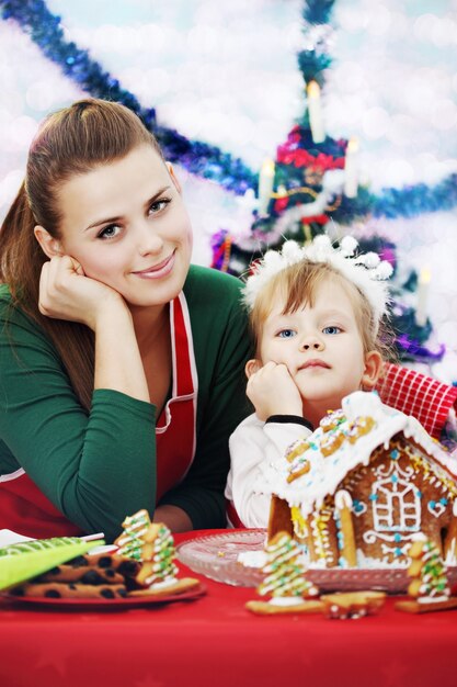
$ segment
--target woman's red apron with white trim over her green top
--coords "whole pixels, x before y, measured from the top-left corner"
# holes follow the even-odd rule
[[[173,387],[156,427],[156,503],[185,477],[195,455],[197,373],[183,293],[170,304],[170,329]],[[36,538],[83,534],[22,469],[0,476],[0,529],[3,528]]]

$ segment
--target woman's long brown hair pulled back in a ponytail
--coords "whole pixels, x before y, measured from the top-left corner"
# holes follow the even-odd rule
[[[35,239],[34,227],[39,224],[59,238],[57,193],[61,185],[75,174],[118,160],[140,145],[152,146],[162,157],[156,138],[139,117],[118,103],[88,98],[50,114],[32,142],[25,180],[0,230],[0,280],[9,285],[13,305],[48,334],[87,409],[93,392],[93,333],[79,323],[41,314],[39,275],[48,258]]]

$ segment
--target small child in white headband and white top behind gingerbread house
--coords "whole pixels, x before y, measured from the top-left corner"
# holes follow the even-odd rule
[[[373,390],[380,375],[391,267],[374,254],[354,256],[355,248],[351,237],[340,250],[327,236],[305,248],[287,241],[247,281],[256,346],[245,367],[247,395],[255,414],[230,437],[226,497],[233,526],[266,527],[270,496],[254,488],[261,463],[283,460],[344,396]]]

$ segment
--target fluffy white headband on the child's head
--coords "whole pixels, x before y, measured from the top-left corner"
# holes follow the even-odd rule
[[[253,273],[244,284],[244,303],[252,309],[258,293],[265,284],[292,264],[301,260],[327,262],[362,291],[373,308],[376,322],[380,322],[389,303],[386,280],[393,271],[392,266],[381,261],[376,252],[357,254],[357,247],[358,243],[352,236],[345,236],[339,248],[334,248],[330,238],[323,234],[302,247],[294,240],[287,240],[281,251],[267,250],[262,260],[253,264]]]

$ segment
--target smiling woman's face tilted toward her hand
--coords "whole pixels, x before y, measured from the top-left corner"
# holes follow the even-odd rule
[[[168,303],[182,290],[192,227],[180,185],[152,146],[65,182],[59,249],[133,306]]]

